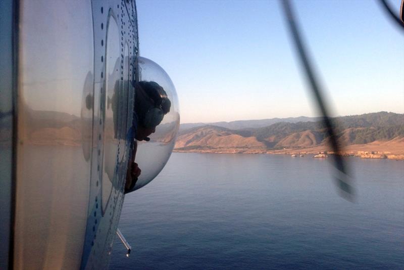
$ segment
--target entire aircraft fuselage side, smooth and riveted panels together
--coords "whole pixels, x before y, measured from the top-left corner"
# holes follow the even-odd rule
[[[7,5],[12,2],[1,3],[2,49],[3,22],[12,16],[3,16]],[[12,216],[6,211],[13,209],[13,176],[3,173],[12,166],[16,194],[9,241],[14,246],[1,246],[2,254],[11,256],[1,256],[0,267],[107,268],[129,156],[126,132],[138,56],[135,3],[41,0],[18,6],[19,32],[13,32],[19,39],[18,75],[3,76],[0,64],[2,90],[7,78],[17,81],[18,108],[11,115],[12,102],[3,103],[12,98],[12,89],[7,88],[9,96],[2,91],[2,219]],[[2,52],[10,56],[10,50]],[[14,150],[12,117],[17,119]],[[1,229],[2,242],[8,242],[10,230]]]

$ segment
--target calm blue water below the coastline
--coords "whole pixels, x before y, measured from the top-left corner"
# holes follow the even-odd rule
[[[111,269],[404,269],[404,162],[349,158],[356,203],[329,160],[174,153],[128,195]]]

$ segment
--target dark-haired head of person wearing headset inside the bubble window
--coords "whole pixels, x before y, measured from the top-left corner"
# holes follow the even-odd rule
[[[135,86],[135,110],[138,118],[136,140],[142,141],[156,131],[165,114],[170,112],[171,102],[157,82],[139,81]]]

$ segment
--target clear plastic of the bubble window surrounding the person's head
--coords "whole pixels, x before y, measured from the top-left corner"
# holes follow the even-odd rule
[[[156,82],[167,93],[170,100],[170,111],[156,127],[156,131],[148,138],[150,141],[138,141],[135,162],[141,169],[141,174],[134,190],[140,189],[153,180],[166,165],[173,151],[177,131],[180,124],[177,92],[168,74],[155,62],[137,58],[139,82]],[[136,85],[136,87],[139,87]],[[135,96],[135,99],[138,98]],[[140,117],[140,116],[139,116]],[[141,119],[139,119],[141,122]]]

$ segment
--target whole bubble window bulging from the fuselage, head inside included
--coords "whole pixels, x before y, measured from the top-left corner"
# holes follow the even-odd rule
[[[158,64],[143,57],[137,58],[137,68],[139,79],[135,85],[135,111],[138,112],[138,133],[142,128],[153,130],[153,125],[158,125],[148,136],[149,141],[138,141],[135,162],[141,174],[134,190],[148,184],[164,168],[173,151],[180,123],[177,93],[168,74]],[[158,87],[160,94],[166,97],[161,102],[154,101],[153,106],[148,105],[147,97],[142,97],[144,93],[139,92],[139,88],[147,87]]]

